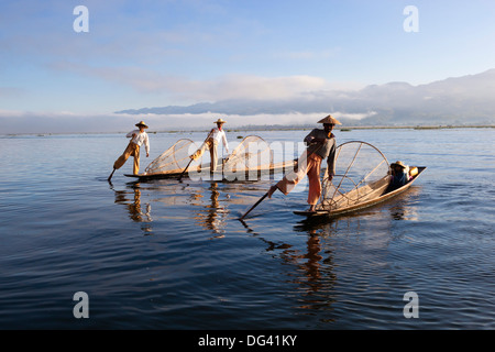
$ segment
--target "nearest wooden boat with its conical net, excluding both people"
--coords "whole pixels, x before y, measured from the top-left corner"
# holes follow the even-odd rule
[[[388,162],[373,145],[348,142],[340,145],[337,153],[337,167],[342,173],[338,173],[332,180],[323,182],[324,193],[317,210],[294,213],[310,218],[337,217],[369,208],[409,189],[426,169],[425,166],[410,167],[410,179],[393,189]]]

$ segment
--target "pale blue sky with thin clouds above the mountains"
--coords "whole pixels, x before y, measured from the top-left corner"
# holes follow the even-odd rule
[[[0,117],[428,84],[495,68],[494,19],[492,0],[1,1]]]

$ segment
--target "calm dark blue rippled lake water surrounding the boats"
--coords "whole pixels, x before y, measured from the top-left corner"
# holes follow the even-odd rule
[[[229,132],[299,142],[308,131]],[[427,166],[411,189],[307,222],[306,191],[107,182],[123,134],[1,136],[1,329],[494,329],[494,129],[336,131]],[[182,138],[151,134],[144,168]],[[89,299],[76,319],[74,294]],[[418,297],[406,318],[404,296]]]

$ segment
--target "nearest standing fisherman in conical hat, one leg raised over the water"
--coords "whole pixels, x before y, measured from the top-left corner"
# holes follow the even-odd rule
[[[306,138],[305,143],[308,145],[305,153],[297,162],[297,170],[286,175],[276,185],[268,190],[268,198],[275,190],[279,189],[284,195],[288,195],[294,187],[308,175],[309,191],[308,204],[309,211],[316,211],[316,205],[321,195],[320,169],[321,161],[327,158],[328,178],[332,180],[336,175],[336,136],[332,133],[336,124],[341,124],[332,116],[318,121],[323,124],[323,129],[312,130]]]

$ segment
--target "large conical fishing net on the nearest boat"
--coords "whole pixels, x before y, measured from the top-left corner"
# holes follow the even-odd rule
[[[337,147],[336,175],[322,184],[321,208],[338,211],[381,196],[388,187],[386,157],[365,142],[346,142]]]

